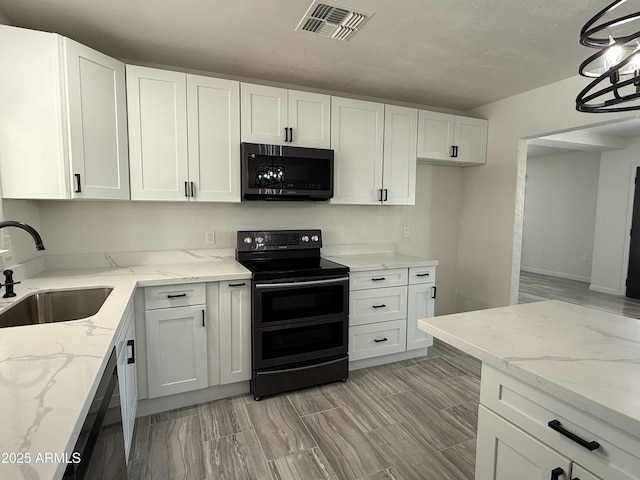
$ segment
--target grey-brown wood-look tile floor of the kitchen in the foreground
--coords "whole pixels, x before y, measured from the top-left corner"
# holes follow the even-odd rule
[[[347,382],[136,420],[131,480],[473,480],[480,363],[426,357]]]

